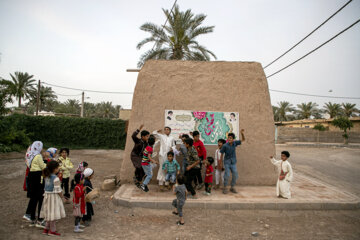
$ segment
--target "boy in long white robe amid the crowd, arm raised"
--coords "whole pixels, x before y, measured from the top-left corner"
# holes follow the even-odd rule
[[[175,147],[175,140],[172,136],[170,136],[171,128],[165,127],[164,134],[162,134],[162,130],[154,131],[153,134],[156,138],[160,138],[160,151],[159,151],[159,171],[157,175],[157,180],[159,181],[160,191],[164,191],[164,182],[165,182],[165,172],[162,170],[161,166],[167,159],[167,153],[173,151],[173,147]]]

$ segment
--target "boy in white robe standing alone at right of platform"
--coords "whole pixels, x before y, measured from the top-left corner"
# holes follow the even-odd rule
[[[290,157],[288,151],[281,152],[281,160],[276,160],[273,156],[270,157],[272,164],[279,169],[279,178],[276,183],[276,196],[289,199],[291,198],[290,182],[293,179],[292,167],[287,159]]]

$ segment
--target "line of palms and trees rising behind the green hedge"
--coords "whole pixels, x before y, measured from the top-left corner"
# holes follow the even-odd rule
[[[36,111],[38,89],[33,75],[23,72],[10,74],[11,80],[0,78],[0,115],[11,113],[6,105],[17,100],[18,108],[27,114]],[[76,99],[65,102],[57,100],[56,93],[51,87],[41,86],[39,94],[39,111],[59,114],[80,115],[81,103]],[[25,102],[26,101],[26,102]],[[84,117],[92,118],[118,118],[120,105],[112,102],[84,103]]]

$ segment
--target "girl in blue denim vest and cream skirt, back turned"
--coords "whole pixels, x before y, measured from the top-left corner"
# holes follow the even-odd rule
[[[46,226],[43,234],[49,236],[60,236],[61,234],[56,232],[56,221],[65,218],[65,209],[62,198],[61,183],[56,176],[59,171],[59,163],[56,161],[50,161],[47,163],[46,168],[43,171],[43,177],[45,179],[45,194],[44,204],[42,206],[40,217],[46,221]]]

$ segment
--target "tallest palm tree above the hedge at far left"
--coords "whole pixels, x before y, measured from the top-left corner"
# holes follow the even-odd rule
[[[33,75],[28,73],[15,72],[15,76],[10,73],[11,80],[4,80],[12,96],[18,99],[18,106],[21,107],[21,99],[29,98],[30,92],[34,90],[35,80]]]

